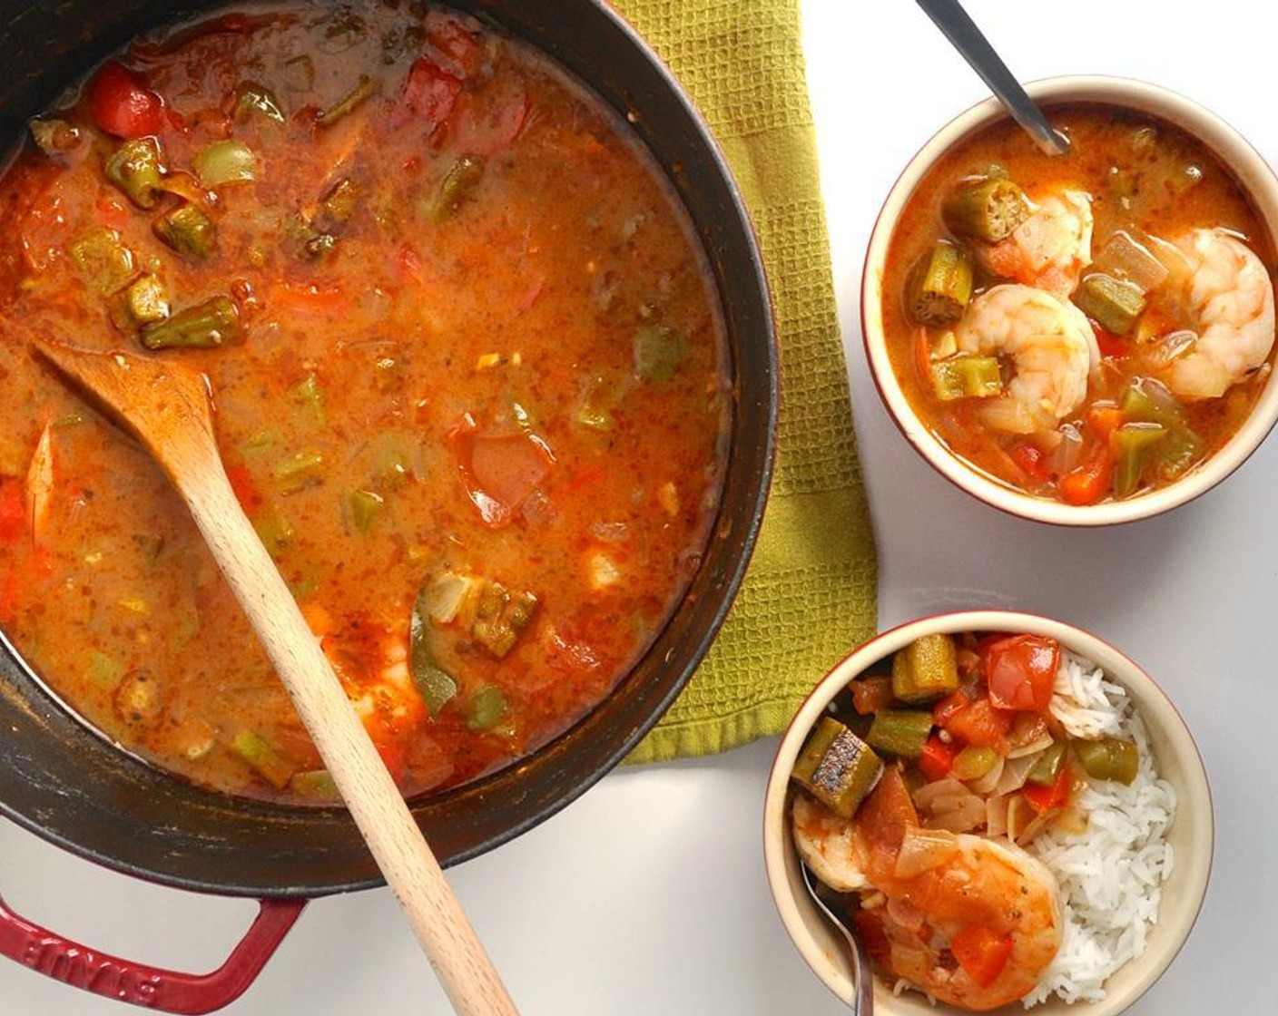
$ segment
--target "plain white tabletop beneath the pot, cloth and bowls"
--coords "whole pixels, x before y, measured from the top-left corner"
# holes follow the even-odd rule
[[[1278,603],[1278,437],[1200,501],[1111,532],[1003,518],[932,473],[886,417],[866,374],[856,309],[861,257],[897,171],[984,89],[907,0],[803,6],[881,551],[881,622],[951,607],[1036,611],[1111,640],[1163,684],[1206,762],[1217,854],[1189,944],[1130,1012],[1258,1011],[1256,989],[1278,988],[1278,652],[1265,642]],[[1278,160],[1278,14],[1268,5],[969,0],[967,8],[1022,78],[1144,78],[1222,114]],[[768,896],[759,820],[773,748],[766,740],[718,758],[616,772],[515,842],[449,872],[524,1013],[846,1012],[809,974]],[[104,872],[6,822],[0,892],[60,934],[193,971],[217,966],[256,909]],[[0,961],[5,1016],[128,1011]],[[258,981],[224,1011],[445,1013],[449,1006],[382,889],[312,904]]]

